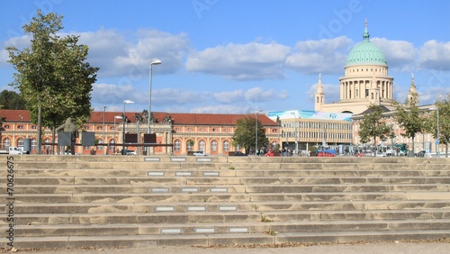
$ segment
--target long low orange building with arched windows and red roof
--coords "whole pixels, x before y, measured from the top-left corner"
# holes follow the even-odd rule
[[[23,147],[25,139],[31,140],[31,153],[36,153],[37,125],[31,122],[26,110],[0,110],[2,116],[1,146]],[[95,146],[76,146],[79,154],[117,154],[122,149],[124,134],[139,133],[137,143],[126,145],[127,150],[138,154],[147,154],[147,148],[141,146],[144,134],[148,132],[148,123],[140,122],[139,113],[126,113],[127,122],[122,122],[122,113],[93,112],[91,118],[78,129],[77,144],[82,144],[85,132],[94,132]],[[202,150],[211,155],[227,155],[229,151],[244,150],[232,144],[236,131],[236,122],[255,114],[217,114],[217,113],[152,113],[150,132],[156,133],[157,146],[150,148],[151,154],[185,155],[190,150]],[[264,126],[266,137],[271,144],[280,142],[279,126],[265,114],[257,116]],[[42,132],[42,152],[61,153],[62,148],[52,145],[58,143],[58,132],[49,129]],[[140,144],[140,145],[139,145]]]

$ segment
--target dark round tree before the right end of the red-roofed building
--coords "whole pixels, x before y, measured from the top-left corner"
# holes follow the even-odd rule
[[[255,130],[256,127],[257,132]],[[241,118],[238,122],[236,122],[236,132],[234,132],[233,135],[233,145],[241,146],[248,151],[250,148],[254,148],[257,145],[255,134],[257,134],[258,144],[264,145],[269,142],[266,138],[266,129],[261,122],[256,122],[256,118],[253,117]]]

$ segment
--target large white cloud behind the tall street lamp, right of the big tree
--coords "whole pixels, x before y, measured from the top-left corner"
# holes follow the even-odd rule
[[[170,34],[156,30],[140,30],[137,41],[127,41],[124,35],[113,30],[80,33],[80,42],[89,45],[89,62],[99,67],[99,74],[127,76],[138,80],[148,76],[150,59],[160,59],[159,73],[173,73],[183,66],[189,47],[184,33]]]

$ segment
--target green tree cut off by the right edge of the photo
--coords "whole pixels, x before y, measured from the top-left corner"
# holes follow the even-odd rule
[[[440,144],[446,144],[446,158],[448,158],[448,143],[450,142],[450,94],[447,94],[444,100],[441,95],[436,101],[435,107],[428,115],[428,121],[425,128],[428,133],[433,133],[435,139],[439,139]],[[437,137],[437,113],[439,113],[439,136]]]

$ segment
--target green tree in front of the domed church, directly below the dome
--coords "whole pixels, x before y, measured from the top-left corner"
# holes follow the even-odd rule
[[[359,124],[360,141],[367,143],[374,138],[376,147],[376,138],[386,141],[392,137],[392,125],[383,121],[383,109],[380,105],[371,104],[367,109],[363,121]]]

